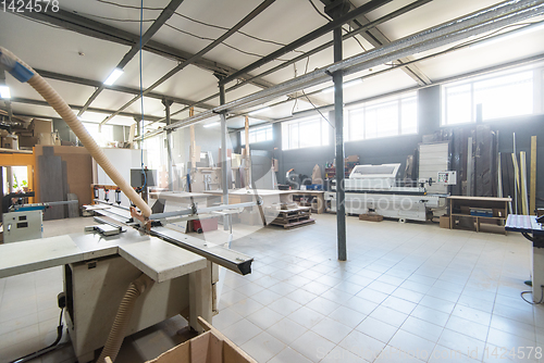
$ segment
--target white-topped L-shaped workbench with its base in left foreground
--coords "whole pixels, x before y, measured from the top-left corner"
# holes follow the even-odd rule
[[[154,284],[138,298],[127,335],[177,314],[198,331],[198,316],[212,318],[217,265],[136,229],[111,237],[81,233],[0,246],[0,277],[53,266],[64,266],[65,316],[82,363],[91,361],[106,343],[129,283],[141,273]]]

